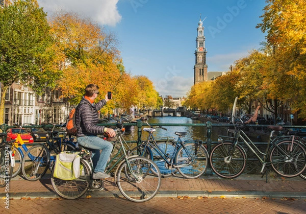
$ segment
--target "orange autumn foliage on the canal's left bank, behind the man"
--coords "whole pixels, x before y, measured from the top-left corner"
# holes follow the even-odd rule
[[[113,92],[103,113],[113,108],[129,111],[132,106],[154,108],[158,93],[147,77],[132,77],[125,72],[116,37],[88,18],[79,14],[59,12],[50,20],[51,33],[56,40],[58,64],[63,70],[57,82],[63,96],[77,104],[86,85],[100,88],[99,98]]]

